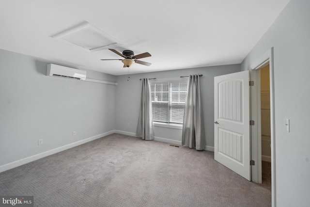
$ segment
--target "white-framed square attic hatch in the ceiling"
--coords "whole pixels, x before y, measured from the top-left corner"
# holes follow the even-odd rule
[[[52,38],[77,46],[89,52],[121,45],[119,40],[106,32],[102,32],[88,22],[53,35]]]

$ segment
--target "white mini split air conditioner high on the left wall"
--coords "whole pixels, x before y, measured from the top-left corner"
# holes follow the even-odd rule
[[[86,71],[57,64],[47,64],[47,76],[86,80]]]

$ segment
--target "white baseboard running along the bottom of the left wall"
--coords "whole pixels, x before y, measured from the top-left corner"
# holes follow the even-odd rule
[[[30,156],[30,157],[28,157],[28,158],[19,159],[19,160],[17,160],[17,161],[14,161],[14,162],[10,162],[10,163],[1,165],[1,166],[0,166],[0,173],[1,173],[1,172],[4,172],[4,171],[6,171],[6,170],[10,170],[10,169],[12,169],[12,168],[18,167],[18,166],[20,166],[20,165],[23,165],[23,164],[32,162],[32,161],[34,161],[34,160],[41,159],[41,158],[47,157],[47,156],[49,156],[49,155],[56,154],[56,153],[61,152],[61,151],[63,151],[63,150],[70,149],[70,148],[72,148],[72,147],[81,145],[81,144],[83,144],[83,143],[88,143],[88,142],[91,142],[91,141],[93,141],[93,140],[99,139],[99,138],[101,138],[101,137],[108,136],[108,135],[113,134],[113,133],[115,133],[115,130],[111,130],[111,131],[108,131],[108,132],[106,132],[106,133],[98,134],[98,135],[96,135],[96,136],[93,136],[93,137],[90,137],[90,138],[87,138],[87,139],[84,139],[84,140],[80,140],[80,141],[75,142],[75,143],[70,143],[70,144],[67,144],[67,145],[64,145],[64,146],[55,148],[55,149],[51,149],[51,150],[48,150],[48,151],[46,151],[46,152],[42,152],[42,153],[39,153],[39,154]]]

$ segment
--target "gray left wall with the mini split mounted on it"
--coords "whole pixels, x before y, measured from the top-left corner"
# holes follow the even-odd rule
[[[0,50],[0,166],[115,129],[115,85],[47,77],[49,63]]]

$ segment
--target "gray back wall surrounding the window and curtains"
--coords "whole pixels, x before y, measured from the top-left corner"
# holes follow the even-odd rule
[[[214,147],[214,77],[239,71],[240,64],[233,64],[133,74],[130,75],[129,81],[127,81],[126,75],[117,76],[115,129],[123,133],[129,132],[128,134],[131,135],[136,133],[140,107],[140,78],[167,79],[199,73],[203,74],[200,82],[206,145],[211,147],[208,148],[211,150]],[[182,141],[182,129],[154,127],[154,135],[157,137],[157,140],[160,141],[165,141],[165,139],[167,139],[166,141],[176,144],[180,144]]]

